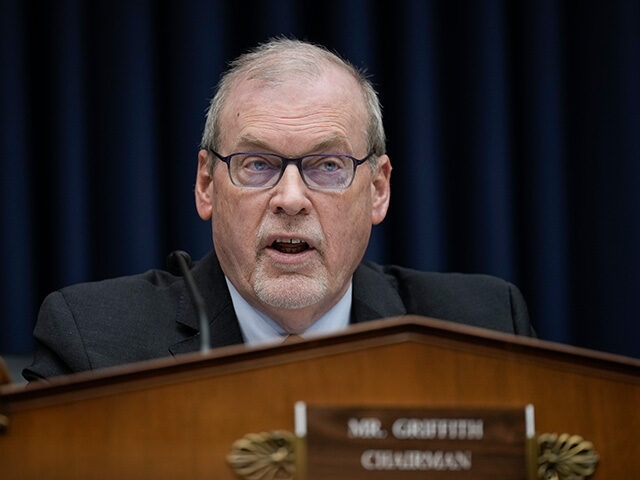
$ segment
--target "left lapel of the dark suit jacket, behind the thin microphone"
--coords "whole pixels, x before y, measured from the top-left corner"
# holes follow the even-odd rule
[[[212,251],[200,260],[192,270],[193,278],[204,299],[211,325],[211,347],[243,343],[240,325],[233,310],[233,303],[224,280],[224,274]],[[197,351],[200,348],[200,326],[184,280],[179,282],[180,299],[176,322],[186,336],[169,347],[173,355]]]

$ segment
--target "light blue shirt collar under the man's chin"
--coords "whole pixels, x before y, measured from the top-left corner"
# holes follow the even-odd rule
[[[225,275],[224,279],[229,287],[233,309],[238,317],[240,330],[245,343],[254,344],[262,342],[279,343],[288,335],[287,332],[276,322],[264,313],[253,308],[242,298],[233,284]],[[342,330],[349,325],[351,316],[353,285],[349,283],[349,288],[344,296],[322,317],[316,320],[304,333],[302,337],[314,334],[331,333]]]

